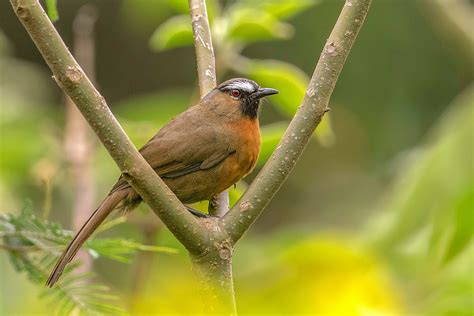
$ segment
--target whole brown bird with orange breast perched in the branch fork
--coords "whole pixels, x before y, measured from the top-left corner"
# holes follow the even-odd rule
[[[227,80],[171,119],[139,152],[183,204],[210,200],[255,167],[260,153],[260,101],[277,93],[250,79]],[[46,285],[52,287],[59,280],[112,211],[130,211],[140,202],[121,175],[63,251]],[[197,216],[206,216],[187,208]]]

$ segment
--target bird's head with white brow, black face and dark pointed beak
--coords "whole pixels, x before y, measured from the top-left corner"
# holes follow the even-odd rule
[[[223,100],[231,106],[239,106],[242,115],[249,118],[256,118],[260,99],[277,93],[278,90],[272,88],[261,88],[253,80],[235,78],[224,81],[218,85],[212,95],[218,95],[220,100]]]

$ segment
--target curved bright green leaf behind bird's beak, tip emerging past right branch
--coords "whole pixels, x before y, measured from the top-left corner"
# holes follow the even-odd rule
[[[288,118],[295,115],[309,83],[309,77],[301,69],[277,60],[251,60],[244,68],[244,73],[264,87],[279,90],[279,94],[271,97],[271,102]],[[335,135],[329,115],[321,121],[315,136],[324,146],[334,143]]]

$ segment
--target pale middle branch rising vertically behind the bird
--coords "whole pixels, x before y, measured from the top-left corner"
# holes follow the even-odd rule
[[[207,17],[205,0],[189,0],[189,12],[191,14],[194,48],[196,51],[196,62],[199,79],[199,92],[203,98],[217,85],[216,81],[216,59],[212,45],[211,28]],[[229,210],[229,192],[226,190],[216,195],[209,202],[209,214],[223,216]]]

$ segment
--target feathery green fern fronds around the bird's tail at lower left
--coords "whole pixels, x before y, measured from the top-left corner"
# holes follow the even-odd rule
[[[123,222],[115,221],[111,225]],[[0,214],[0,249],[9,253],[10,261],[19,272],[43,286],[62,249],[71,240],[72,233],[57,223],[35,216],[30,208],[19,215]],[[85,248],[95,257],[105,256],[128,262],[136,251],[175,253],[166,247],[142,245],[121,239],[92,239]],[[78,273],[79,262],[70,264],[61,280],[51,289],[44,289],[40,296],[51,303],[57,315],[124,315],[119,298],[111,289],[94,281],[93,273]]]

